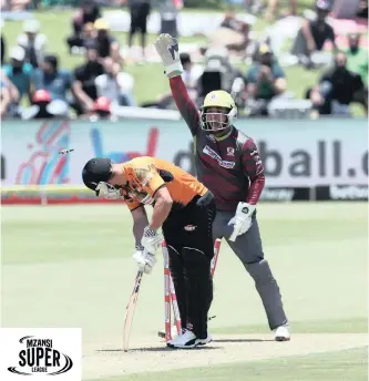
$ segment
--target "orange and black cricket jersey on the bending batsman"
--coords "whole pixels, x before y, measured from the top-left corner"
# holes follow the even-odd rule
[[[180,206],[187,205],[196,195],[203,196],[208,190],[197,178],[161,158],[142,156],[121,165],[129,182],[127,206],[131,210],[142,204],[152,204],[162,186],[167,187],[173,203]]]

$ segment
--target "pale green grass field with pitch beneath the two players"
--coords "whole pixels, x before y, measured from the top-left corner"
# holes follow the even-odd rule
[[[214,341],[165,349],[156,336],[164,328],[158,258],[143,279],[124,353],[136,272],[132,223],[125,206],[106,205],[2,207],[2,326],[81,327],[84,380],[367,380],[367,203],[264,203],[258,210],[290,342],[271,341],[253,281],[223,241]]]

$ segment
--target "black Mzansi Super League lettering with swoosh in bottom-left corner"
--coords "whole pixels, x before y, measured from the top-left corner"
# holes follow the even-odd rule
[[[11,373],[58,375],[68,372],[73,367],[72,359],[54,349],[51,339],[24,336],[19,342],[25,348],[19,352],[19,367],[8,368]]]

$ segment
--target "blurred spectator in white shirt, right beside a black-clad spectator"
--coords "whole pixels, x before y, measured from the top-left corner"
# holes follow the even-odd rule
[[[99,75],[95,80],[98,96],[106,96],[111,102],[116,102],[122,106],[134,106],[133,78],[120,72],[120,64],[111,58],[105,59],[104,69],[105,74]]]

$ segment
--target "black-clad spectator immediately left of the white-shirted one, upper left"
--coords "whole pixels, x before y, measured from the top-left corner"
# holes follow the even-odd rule
[[[103,73],[104,68],[98,61],[96,45],[86,45],[85,62],[74,70],[75,110],[79,115],[93,109],[93,102],[98,99],[95,79]]]

